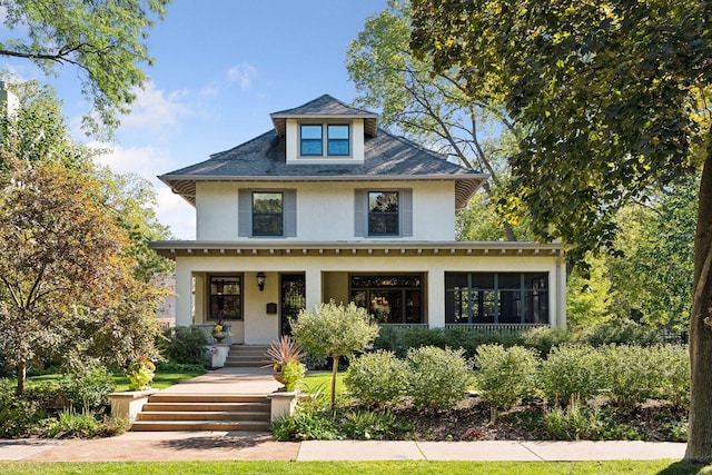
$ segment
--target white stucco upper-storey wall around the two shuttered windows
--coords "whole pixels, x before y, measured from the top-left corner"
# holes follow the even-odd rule
[[[455,239],[453,181],[378,181],[378,182],[222,182],[196,184],[198,240],[259,240],[238,237],[239,189],[295,189],[297,236],[301,241],[383,240],[355,236],[355,199],[357,189],[413,190],[413,236],[399,240],[451,241]],[[251,207],[251,204],[249,204]]]

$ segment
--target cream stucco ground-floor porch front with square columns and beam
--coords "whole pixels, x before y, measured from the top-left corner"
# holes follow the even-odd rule
[[[228,253],[228,251],[226,251]],[[295,253],[296,254],[296,253]],[[306,277],[307,307],[314,308],[333,288],[333,283],[324,281],[325,273],[418,273],[425,276],[427,309],[425,318],[432,327],[445,325],[445,274],[451,271],[487,273],[547,273],[550,324],[565,326],[565,266],[557,265],[557,256],[229,256],[224,257],[178,257],[177,316],[178,325],[189,325],[191,318],[190,299],[184,298],[190,289],[191,276],[210,274],[244,275],[244,323],[243,335],[236,334],[234,342],[248,344],[268,343],[279,335],[279,316],[266,313],[267,303],[279,306],[279,273],[304,273]],[[265,290],[259,291],[256,274],[267,275]],[[188,281],[188,284],[186,284]],[[205,283],[205,280],[200,280]],[[205,284],[196,285],[196,321],[204,321],[206,313]],[[190,293],[188,291],[188,295]],[[199,304],[202,303],[202,304]],[[184,323],[185,321],[185,323]],[[234,327],[240,328],[239,325]],[[239,329],[238,329],[239,331]],[[240,339],[244,336],[244,339]]]

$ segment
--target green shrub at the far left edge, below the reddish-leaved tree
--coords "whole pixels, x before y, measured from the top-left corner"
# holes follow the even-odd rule
[[[0,379],[0,437],[27,435],[44,416],[39,404],[14,395],[12,382]]]

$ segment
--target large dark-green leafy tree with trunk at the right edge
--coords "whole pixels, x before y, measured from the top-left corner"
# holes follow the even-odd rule
[[[542,239],[614,249],[616,212],[702,167],[685,458],[712,461],[712,87],[709,1],[414,0],[412,47],[465,88],[498,85],[526,125],[512,194]],[[511,206],[511,204],[510,204]]]

